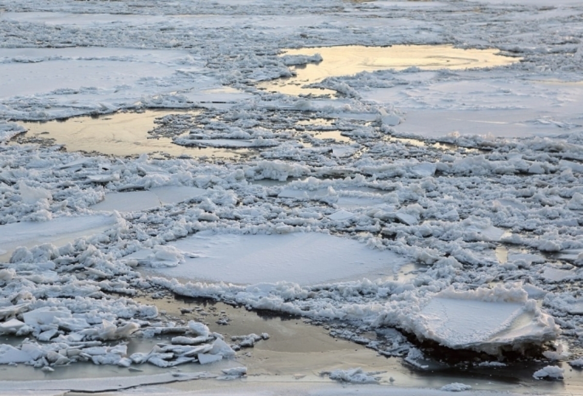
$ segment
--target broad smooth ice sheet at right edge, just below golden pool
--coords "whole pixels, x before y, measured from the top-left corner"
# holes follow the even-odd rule
[[[557,136],[582,130],[581,82],[500,76],[376,87],[361,95],[401,109],[395,130],[402,136]]]

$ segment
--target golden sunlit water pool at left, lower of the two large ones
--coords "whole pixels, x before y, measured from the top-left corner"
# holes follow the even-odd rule
[[[20,122],[28,130],[18,142],[43,142],[47,139],[63,144],[68,151],[85,151],[128,156],[163,153],[173,157],[223,157],[250,154],[247,149],[189,148],[174,144],[170,137],[154,137],[148,132],[154,120],[171,114],[196,114],[196,111],[148,110],[141,113],[118,112],[98,117],[82,116],[65,121]]]

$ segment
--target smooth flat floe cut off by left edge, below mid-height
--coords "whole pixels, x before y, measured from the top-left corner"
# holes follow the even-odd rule
[[[0,225],[0,260],[10,259],[10,254],[19,246],[31,248],[42,243],[65,245],[75,238],[105,231],[116,223],[115,216],[94,215]]]

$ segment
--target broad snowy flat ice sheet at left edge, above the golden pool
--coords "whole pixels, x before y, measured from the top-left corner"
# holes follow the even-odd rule
[[[136,104],[191,107],[250,97],[222,87],[188,51],[107,47],[0,48],[0,115],[45,120]],[[22,107],[22,97],[34,105]]]

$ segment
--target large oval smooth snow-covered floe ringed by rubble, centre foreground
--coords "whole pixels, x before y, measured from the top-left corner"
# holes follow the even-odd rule
[[[319,232],[234,235],[199,232],[169,244],[184,254],[167,277],[238,284],[289,281],[298,284],[392,274],[406,259],[387,250]]]

